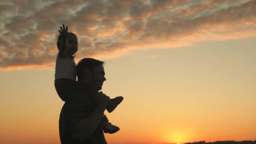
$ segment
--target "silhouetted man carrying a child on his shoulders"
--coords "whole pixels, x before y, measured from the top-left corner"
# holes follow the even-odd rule
[[[88,83],[96,91],[102,89],[105,78],[104,61],[85,58],[77,64],[77,80]],[[95,96],[84,92],[72,93],[59,118],[61,144],[107,144],[101,117],[109,102],[102,92]]]

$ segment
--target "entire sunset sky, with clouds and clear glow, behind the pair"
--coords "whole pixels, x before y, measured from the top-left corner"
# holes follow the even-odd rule
[[[60,144],[58,29],[123,102],[108,144],[256,140],[256,0],[1,0],[0,143]]]

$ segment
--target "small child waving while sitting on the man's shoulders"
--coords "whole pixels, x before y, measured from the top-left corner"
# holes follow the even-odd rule
[[[98,91],[94,91],[93,88],[86,83],[76,81],[77,76],[74,57],[78,50],[77,36],[72,32],[68,32],[68,27],[65,28],[64,24],[63,28],[60,27],[60,29],[57,42],[59,53],[56,58],[54,80],[56,92],[62,101],[68,101],[71,97],[71,93],[75,91],[91,93],[94,96]],[[110,99],[107,111],[112,112],[122,101],[122,96]],[[104,133],[115,133],[120,130],[117,126],[109,123],[106,115],[102,116],[102,126]]]

